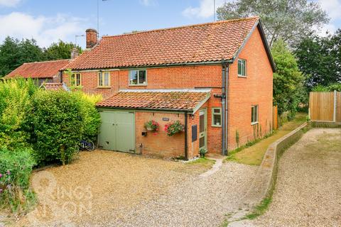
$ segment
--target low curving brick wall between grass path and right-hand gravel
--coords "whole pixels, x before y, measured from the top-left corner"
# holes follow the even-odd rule
[[[296,143],[303,135],[304,128],[308,123],[303,123],[291,133],[284,135],[282,138],[271,143],[266,150],[263,161],[259,166],[254,177],[254,182],[251,184],[249,192],[244,197],[250,205],[259,204],[267,196],[271,196],[276,184],[276,177],[278,171],[278,160],[283,154],[284,150],[288,149]]]

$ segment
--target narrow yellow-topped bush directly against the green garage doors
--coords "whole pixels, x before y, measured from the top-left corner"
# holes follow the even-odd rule
[[[80,102],[80,108],[84,117],[84,133],[82,138],[92,141],[97,140],[101,116],[99,115],[95,104],[102,100],[102,95],[88,95],[82,92],[75,92],[73,95],[77,101]]]

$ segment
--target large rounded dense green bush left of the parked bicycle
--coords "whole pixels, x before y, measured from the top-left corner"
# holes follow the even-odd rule
[[[39,165],[70,162],[84,132],[84,106],[68,92],[40,91],[31,112],[34,155]]]

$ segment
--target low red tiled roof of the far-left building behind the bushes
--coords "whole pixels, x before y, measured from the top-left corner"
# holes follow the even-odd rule
[[[50,78],[55,77],[70,60],[54,60],[46,62],[29,62],[23,63],[16,70],[13,70],[6,75],[5,79],[13,77],[23,77],[23,78]]]

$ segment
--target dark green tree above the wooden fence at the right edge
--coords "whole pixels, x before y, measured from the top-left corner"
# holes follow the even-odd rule
[[[341,29],[334,35],[303,39],[295,54],[308,90],[341,82]]]

